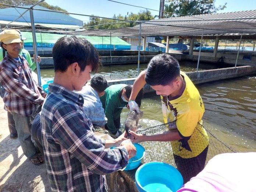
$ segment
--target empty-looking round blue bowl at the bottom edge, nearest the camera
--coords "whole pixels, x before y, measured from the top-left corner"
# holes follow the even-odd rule
[[[172,192],[181,188],[183,178],[181,173],[169,164],[150,162],[138,168],[135,184],[139,192]]]

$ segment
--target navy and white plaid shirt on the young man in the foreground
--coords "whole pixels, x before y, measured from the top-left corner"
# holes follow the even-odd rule
[[[55,83],[42,107],[42,142],[52,191],[107,191],[105,174],[124,168],[124,147],[105,149],[83,113],[83,97]]]

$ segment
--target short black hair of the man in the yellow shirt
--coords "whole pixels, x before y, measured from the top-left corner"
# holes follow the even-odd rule
[[[152,86],[167,85],[179,77],[179,62],[169,54],[158,54],[154,56],[147,65],[145,80]]]

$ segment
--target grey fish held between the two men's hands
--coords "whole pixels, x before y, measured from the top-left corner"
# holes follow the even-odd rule
[[[136,110],[133,110],[128,114],[127,120],[125,121],[125,132],[127,138],[132,138],[132,135],[129,133],[129,130],[133,132],[137,131],[138,122],[142,118],[142,115],[143,111],[137,113]]]

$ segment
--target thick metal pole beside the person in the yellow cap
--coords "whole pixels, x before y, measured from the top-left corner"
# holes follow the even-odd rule
[[[33,9],[29,10],[30,13],[30,21],[31,21],[31,29],[32,29],[32,36],[33,36],[33,47],[34,47],[34,53],[35,53],[35,62],[36,62],[36,71],[38,75],[38,85],[41,86],[41,73],[40,73],[40,66],[37,61],[38,58],[38,50],[37,50],[37,43],[36,43],[36,29],[35,29],[35,22],[34,22],[34,15],[33,15]]]

